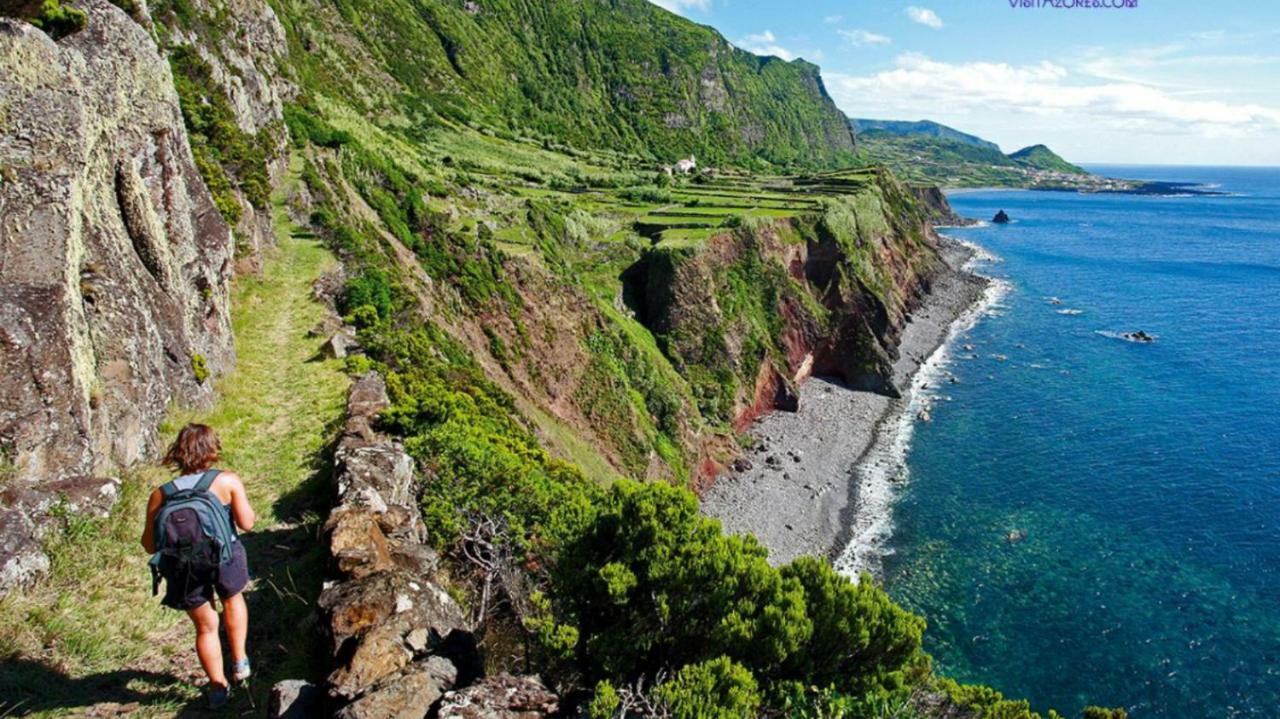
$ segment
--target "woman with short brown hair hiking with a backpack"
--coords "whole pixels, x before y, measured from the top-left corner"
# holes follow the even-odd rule
[[[142,546],[152,553],[152,594],[165,581],[163,604],[180,609],[196,624],[196,654],[209,674],[209,705],[227,705],[230,684],[223,670],[214,595],[223,603],[227,640],[232,649],[232,681],[250,676],[244,636],[248,608],[244,586],[248,562],[239,531],[253,528],[253,508],[244,484],[233,472],[214,470],[221,443],[207,425],[187,425],[169,446],[163,463],[180,476],[151,493]]]

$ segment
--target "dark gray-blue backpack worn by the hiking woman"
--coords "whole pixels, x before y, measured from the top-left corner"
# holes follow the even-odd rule
[[[160,487],[164,504],[155,518],[152,595],[159,592],[161,577],[170,585],[187,585],[216,577],[218,569],[230,562],[232,546],[239,540],[227,507],[209,491],[219,472],[206,470],[191,489],[178,489],[178,480]]]

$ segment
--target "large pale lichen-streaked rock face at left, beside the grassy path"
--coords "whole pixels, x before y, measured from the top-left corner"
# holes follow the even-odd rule
[[[232,233],[169,64],[106,0],[54,42],[0,18],[0,587],[44,567],[40,517],[102,505],[170,402],[234,361]]]

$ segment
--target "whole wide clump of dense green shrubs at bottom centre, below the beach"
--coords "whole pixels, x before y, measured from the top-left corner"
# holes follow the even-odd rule
[[[589,679],[701,665],[677,686],[718,677],[746,696],[751,677],[764,696],[795,686],[886,692],[923,656],[924,622],[869,578],[854,585],[814,559],[776,569],[754,537],[723,535],[692,494],[663,484],[614,484],[554,567]]]

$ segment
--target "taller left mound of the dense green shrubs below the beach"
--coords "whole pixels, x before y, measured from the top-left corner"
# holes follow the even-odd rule
[[[620,481],[561,553],[554,581],[595,678],[724,655],[773,674],[812,631],[804,594],[754,537],[730,537],[687,490]]]

